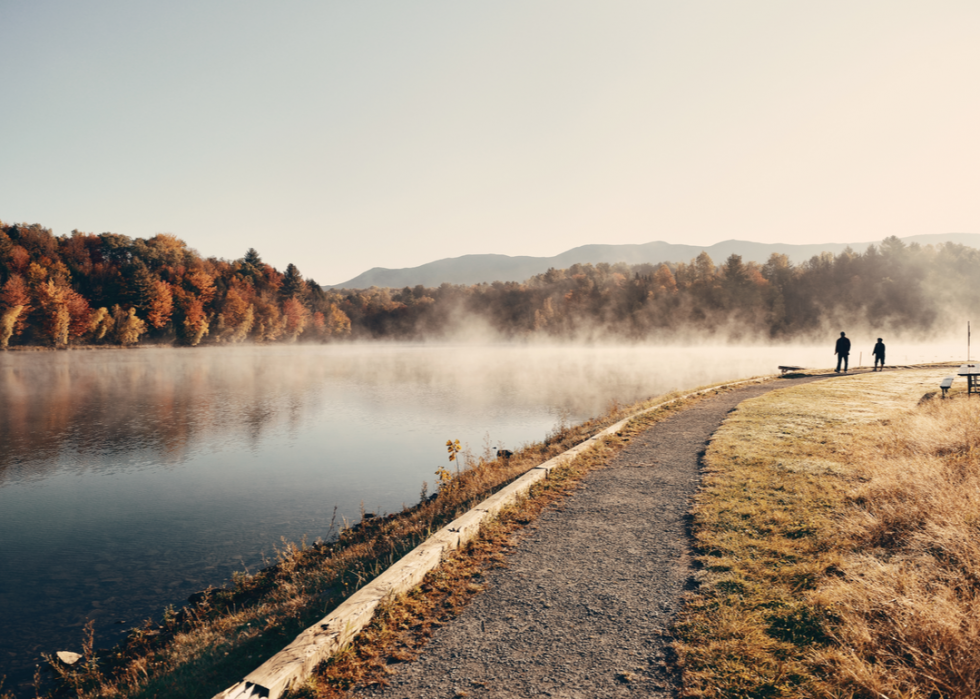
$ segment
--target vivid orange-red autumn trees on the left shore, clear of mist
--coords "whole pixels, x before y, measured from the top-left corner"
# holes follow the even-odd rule
[[[204,258],[169,234],[149,239],[0,224],[0,347],[143,342],[322,342],[350,320],[295,265],[254,249]]]

